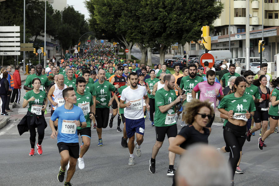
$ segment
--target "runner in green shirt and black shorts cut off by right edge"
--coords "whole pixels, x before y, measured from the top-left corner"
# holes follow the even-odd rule
[[[262,137],[259,138],[258,147],[260,150],[263,150],[264,140],[274,132],[279,119],[279,113],[278,113],[279,78],[272,79],[270,85],[272,88],[274,88],[271,94],[271,107],[269,108],[269,112],[268,112],[270,128],[264,133],[264,135],[262,135]]]

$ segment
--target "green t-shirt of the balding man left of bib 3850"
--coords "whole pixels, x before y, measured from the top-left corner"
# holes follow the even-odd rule
[[[96,100],[100,102],[96,104],[96,108],[109,108],[110,91],[115,91],[116,88],[108,81],[104,81],[103,84],[95,82],[93,88],[93,96],[96,96]]]

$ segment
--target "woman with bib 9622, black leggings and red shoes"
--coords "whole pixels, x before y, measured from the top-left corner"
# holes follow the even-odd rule
[[[44,111],[47,108],[47,94],[45,91],[40,90],[40,86],[41,80],[34,78],[32,81],[32,87],[34,89],[24,95],[22,104],[23,108],[29,104],[29,108],[27,114],[19,123],[19,126],[27,125],[27,131],[29,130],[30,132],[31,151],[29,156],[34,156],[35,153],[36,128],[38,128],[37,152],[38,154],[42,154],[42,140],[44,139],[45,128],[47,127],[47,122],[44,117]],[[22,134],[23,132],[20,132],[20,135]]]

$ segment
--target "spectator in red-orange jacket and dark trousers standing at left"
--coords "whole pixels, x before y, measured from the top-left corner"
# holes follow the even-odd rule
[[[21,89],[21,78],[19,73],[20,67],[18,65],[15,66],[15,72],[13,73],[13,78],[15,82],[13,94],[11,96],[11,103],[18,103],[20,101],[20,89]]]

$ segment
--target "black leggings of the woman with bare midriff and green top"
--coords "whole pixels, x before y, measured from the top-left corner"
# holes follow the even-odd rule
[[[240,158],[240,151],[246,140],[246,126],[237,126],[230,122],[226,123],[224,128],[224,140],[226,148],[229,148],[230,158],[228,160],[232,168],[232,179],[234,177],[235,169]]]

